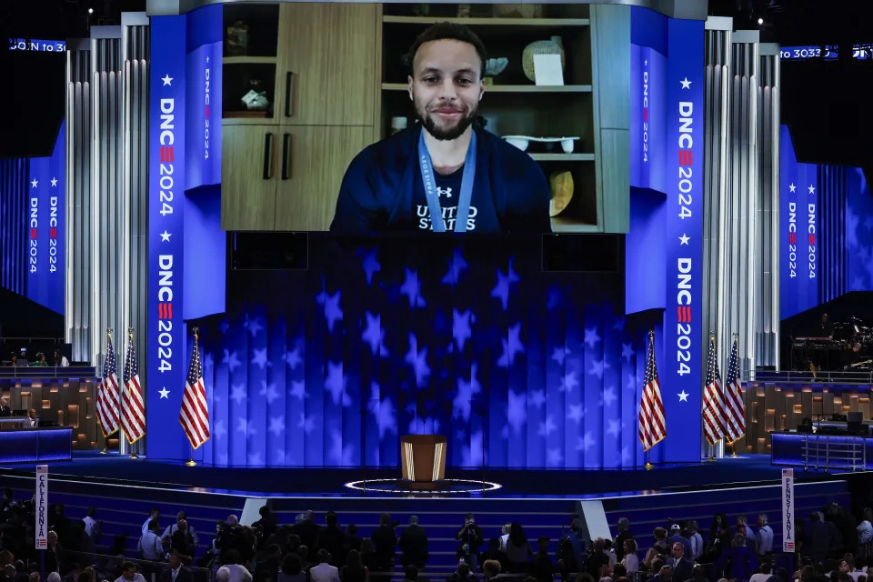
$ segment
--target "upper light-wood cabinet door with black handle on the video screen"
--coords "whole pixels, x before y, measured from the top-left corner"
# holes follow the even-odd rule
[[[279,119],[288,125],[374,125],[376,4],[282,5]]]

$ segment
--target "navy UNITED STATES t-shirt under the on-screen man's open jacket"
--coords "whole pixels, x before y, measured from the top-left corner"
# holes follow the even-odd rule
[[[457,201],[461,193],[463,176],[464,166],[447,176],[434,172],[434,179],[437,182],[437,197],[439,198],[439,206],[443,209],[443,220],[446,223],[447,232],[455,230]],[[425,185],[421,179],[416,180],[412,203],[413,216],[416,216],[418,220],[418,230],[432,231],[434,226],[431,222],[430,207],[427,206]],[[494,201],[490,196],[482,196],[482,191],[474,187],[470,197],[470,213],[467,215],[467,232],[496,232],[499,230],[500,223],[497,220]]]

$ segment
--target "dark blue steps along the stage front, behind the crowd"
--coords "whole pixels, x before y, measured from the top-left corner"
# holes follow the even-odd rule
[[[654,477],[654,476],[653,476]],[[32,495],[32,477],[3,478],[3,485],[13,487],[15,497]],[[293,524],[295,516],[308,509],[316,512],[316,523],[324,524],[327,511],[335,511],[342,526],[354,523],[360,537],[368,537],[378,526],[379,515],[389,513],[400,523],[398,533],[411,515],[419,518],[429,538],[430,559],[426,568],[429,576],[437,579],[447,576],[457,567],[455,540],[467,512],[477,517],[479,527],[487,540],[500,535],[504,523],[518,521],[525,527],[528,539],[536,546],[539,536],[551,539],[550,551],[557,550],[557,539],[562,528],[579,511],[574,499],[559,498],[422,498],[422,497],[285,497],[272,498],[271,505],[279,523]],[[817,483],[799,483],[795,486],[796,515],[808,517],[830,501],[849,507],[848,487],[845,481],[832,480]],[[104,521],[102,549],[107,549],[115,534],[127,534],[126,555],[135,557],[140,528],[150,507],[161,509],[162,529],[172,523],[179,509],[185,509],[188,519],[196,528],[201,557],[215,534],[216,521],[230,514],[242,515],[246,497],[232,493],[213,493],[203,490],[175,490],[131,485],[125,482],[105,483],[53,479],[49,487],[51,503],[63,503],[65,515],[70,518],[85,516],[88,506],[97,508],[97,517]],[[601,503],[613,535],[617,533],[619,517],[631,520],[631,531],[640,544],[642,556],[649,547],[651,532],[657,526],[666,526],[668,519],[697,519],[702,531],[708,532],[713,514],[723,511],[728,522],[734,523],[740,513],[755,520],[758,513],[768,514],[776,532],[777,543],[782,535],[780,487],[726,487],[703,491],[657,493],[627,497],[604,496]],[[399,572],[399,565],[396,571]]]

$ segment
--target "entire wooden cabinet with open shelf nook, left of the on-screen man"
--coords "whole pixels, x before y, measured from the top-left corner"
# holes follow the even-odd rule
[[[225,230],[326,230],[346,167],[376,138],[381,8],[358,3],[225,6],[249,31],[224,59]],[[269,107],[244,111],[250,85]]]

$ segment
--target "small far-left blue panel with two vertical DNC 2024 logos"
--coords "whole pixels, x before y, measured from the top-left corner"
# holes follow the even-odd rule
[[[51,156],[30,159],[27,186],[27,298],[64,313],[66,131]]]

